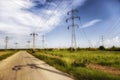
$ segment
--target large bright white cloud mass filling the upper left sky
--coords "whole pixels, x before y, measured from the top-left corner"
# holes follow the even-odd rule
[[[46,0],[36,1],[41,1],[43,5],[46,2]],[[73,4],[79,6],[83,4],[84,1],[85,0],[76,0]],[[61,3],[62,6],[60,6],[62,8],[58,7],[58,11],[43,9],[39,11],[39,14],[34,14],[24,10],[34,5],[35,3],[33,3],[33,0],[0,0],[0,31],[16,35],[25,35],[35,30],[43,32],[49,31],[56,25],[59,25],[61,17],[64,16],[60,12],[68,3]],[[55,6],[55,3],[51,3],[51,5]],[[69,7],[67,9],[69,9]]]

